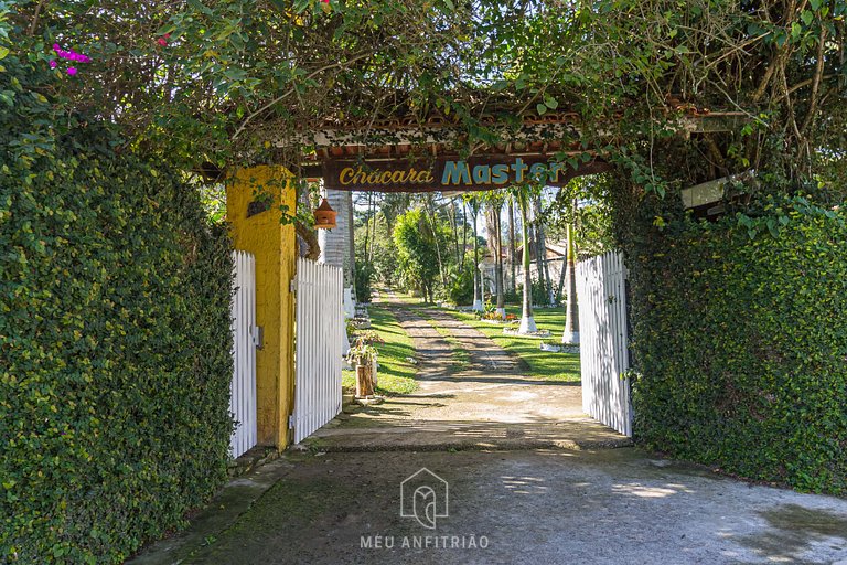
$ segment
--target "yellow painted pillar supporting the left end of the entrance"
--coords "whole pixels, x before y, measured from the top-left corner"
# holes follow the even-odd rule
[[[256,324],[264,347],[256,352],[259,445],[289,443],[288,417],[294,404],[293,225],[280,223],[280,205],[296,210],[291,173],[283,167],[239,169],[226,189],[226,217],[233,246],[256,257]]]

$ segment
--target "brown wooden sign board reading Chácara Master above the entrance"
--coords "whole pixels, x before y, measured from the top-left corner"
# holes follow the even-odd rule
[[[330,190],[376,192],[457,192],[505,189],[540,181],[564,186],[573,177],[609,170],[603,161],[573,164],[544,157],[478,157],[326,161],[323,182]]]

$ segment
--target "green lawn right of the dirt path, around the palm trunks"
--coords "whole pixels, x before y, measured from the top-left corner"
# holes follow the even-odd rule
[[[451,316],[482,331],[492,338],[500,347],[517,354],[529,366],[530,376],[550,381],[579,382],[579,354],[577,353],[550,353],[539,349],[542,340],[537,338],[518,338],[504,335],[503,326],[494,326],[478,320],[472,313],[444,310]],[[506,307],[508,313],[521,316],[519,306]],[[539,330],[549,330],[550,339],[556,343],[565,331],[564,308],[536,308],[533,311],[535,323]]]

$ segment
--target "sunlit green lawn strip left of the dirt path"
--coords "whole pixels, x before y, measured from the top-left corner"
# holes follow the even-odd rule
[[[411,338],[397,323],[397,319],[387,308],[379,306],[368,307],[371,315],[371,329],[376,331],[385,343],[377,343],[379,352],[377,373],[378,385],[376,391],[382,394],[409,394],[418,387],[415,381],[417,367],[406,361],[406,358],[415,356],[415,345]],[[355,371],[343,371],[341,379],[345,390],[355,390]]]

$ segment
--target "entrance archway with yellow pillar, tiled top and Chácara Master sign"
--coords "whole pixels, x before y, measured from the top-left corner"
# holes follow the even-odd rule
[[[688,116],[679,120],[679,130],[685,135],[727,130],[733,128],[735,119],[732,114]],[[480,127],[495,121],[482,119]],[[294,140],[298,147],[312,150],[290,170],[261,166],[229,177],[227,220],[234,246],[256,257],[256,323],[264,337],[256,375],[260,444],[281,448],[291,439],[294,316],[290,282],[297,245],[293,226],[280,224],[274,211],[294,210],[292,178],[321,179],[326,188],[345,192],[426,193],[501,189],[529,180],[565,185],[575,177],[611,169],[572,141],[580,138],[575,115],[526,116],[501,138],[508,141],[472,146],[452,124],[436,118],[424,126],[401,121],[366,128],[326,126]],[[290,143],[289,139],[277,146],[288,151]],[[262,186],[274,190],[262,191]]]

